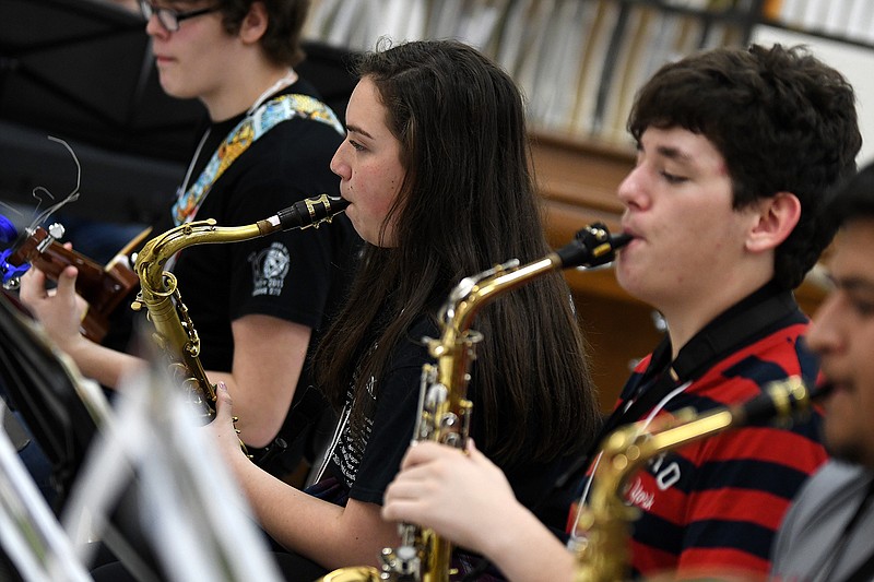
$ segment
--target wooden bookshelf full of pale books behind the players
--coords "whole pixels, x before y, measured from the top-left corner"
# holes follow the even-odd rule
[[[857,87],[863,136],[874,135],[865,131],[874,130],[874,111],[864,107],[874,103],[872,0],[312,0],[305,37],[351,51],[371,50],[382,37],[457,38],[504,67],[528,102],[554,247],[594,221],[618,227],[615,190],[634,164],[625,119],[635,92],[661,64],[695,50],[806,44]],[[824,58],[822,43],[839,48]],[[871,145],[860,162],[874,157]],[[621,289],[611,271],[566,277],[606,411],[629,365],[661,331],[651,309]],[[811,278],[796,293],[808,313],[824,295]]]

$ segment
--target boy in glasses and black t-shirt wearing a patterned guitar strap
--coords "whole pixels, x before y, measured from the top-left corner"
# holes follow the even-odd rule
[[[204,218],[248,225],[305,198],[339,195],[329,164],[342,128],[294,70],[308,8],[304,0],[140,1],[162,87],[200,99],[209,114],[153,233]],[[296,385],[309,383],[309,345],[340,293],[354,240],[343,217],[330,228],[189,247],[174,258],[201,363],[238,403],[240,438],[256,461],[283,435]],[[142,361],[79,333],[74,281],[70,268],[48,297],[35,273],[22,299],[84,375],[116,388]]]

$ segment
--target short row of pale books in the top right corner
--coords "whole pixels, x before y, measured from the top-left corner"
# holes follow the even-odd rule
[[[789,28],[874,45],[871,0],[769,0],[767,16]]]

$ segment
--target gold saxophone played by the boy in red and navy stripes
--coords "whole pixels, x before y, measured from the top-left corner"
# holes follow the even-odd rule
[[[545,258],[519,266],[511,260],[477,275],[463,278],[450,293],[439,313],[440,337],[426,338],[435,364],[422,370],[418,418],[414,441],[435,441],[464,450],[473,405],[466,399],[470,365],[476,357],[482,334],[471,329],[474,316],[487,302],[545,273],[571,266],[591,268],[609,263],[615,250],[630,240],[611,236],[602,224],[587,226],[566,247]],[[321,582],[449,582],[452,546],[433,530],[412,524],[399,526],[401,545],[385,548],[381,569],[341,568]]]

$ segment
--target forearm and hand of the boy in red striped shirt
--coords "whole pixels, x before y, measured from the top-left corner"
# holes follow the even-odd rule
[[[475,447],[411,447],[386,490],[382,516],[420,523],[489,558],[510,580],[571,580],[574,556],[519,503]]]

